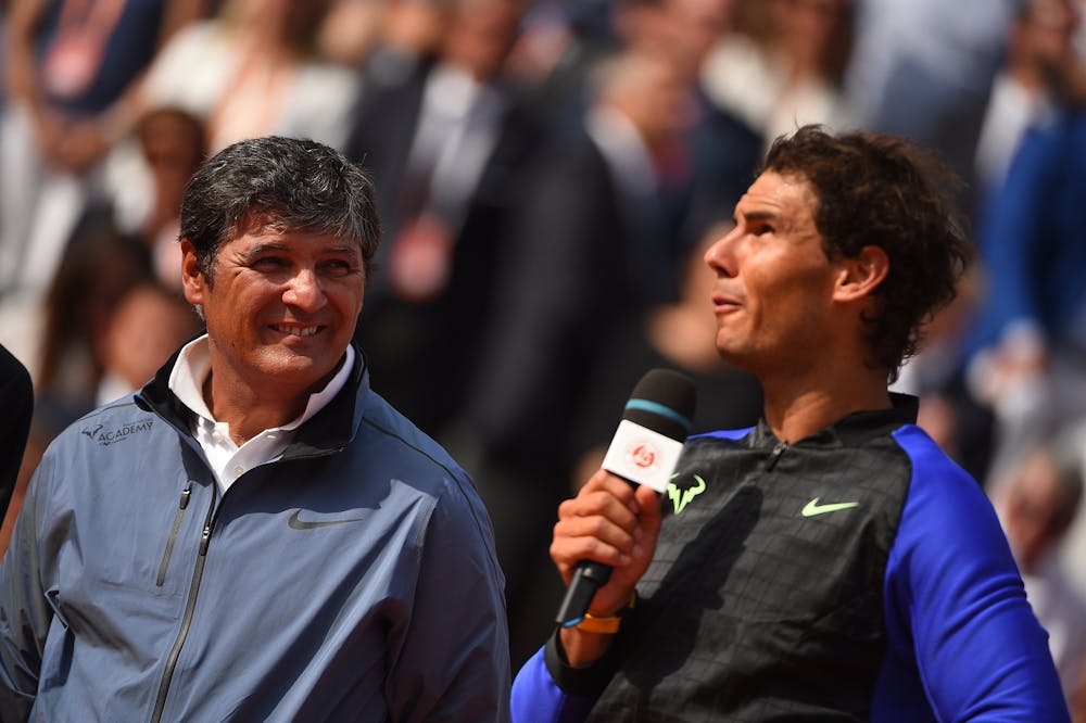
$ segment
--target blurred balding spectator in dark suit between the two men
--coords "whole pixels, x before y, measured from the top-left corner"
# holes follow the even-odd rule
[[[542,153],[518,189],[485,355],[463,436],[447,442],[491,510],[515,659],[546,620],[523,606],[547,569],[547,530],[568,492],[589,360],[621,319],[678,293],[677,229],[666,224],[655,161],[693,119],[691,83],[647,50],[597,73],[586,130]]]

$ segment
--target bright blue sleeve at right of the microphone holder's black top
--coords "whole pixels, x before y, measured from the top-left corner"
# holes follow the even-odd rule
[[[922,692],[940,721],[1070,721],[984,491],[919,428],[895,436],[913,470],[886,569],[889,662],[874,719]]]

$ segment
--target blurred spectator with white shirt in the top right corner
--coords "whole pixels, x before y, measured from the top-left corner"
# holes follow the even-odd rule
[[[1066,101],[1079,21],[1072,0],[1021,4],[1008,30],[1007,56],[993,83],[977,140],[974,178],[982,205],[1002,185],[1025,130],[1050,120]]]

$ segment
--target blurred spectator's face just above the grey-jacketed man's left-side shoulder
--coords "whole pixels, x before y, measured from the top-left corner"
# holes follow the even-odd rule
[[[102,378],[96,405],[140,389],[169,356],[203,327],[175,290],[146,281],[114,309],[102,342]]]

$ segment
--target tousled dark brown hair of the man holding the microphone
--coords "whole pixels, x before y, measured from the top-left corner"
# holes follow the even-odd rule
[[[917,353],[923,327],[949,304],[973,255],[960,208],[959,180],[931,152],[904,138],[833,136],[804,126],[770,147],[762,172],[807,180],[818,199],[815,225],[830,258],[879,246],[889,271],[863,320],[871,363],[896,378]]]

